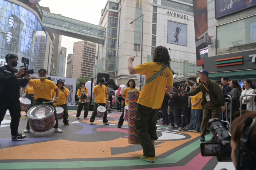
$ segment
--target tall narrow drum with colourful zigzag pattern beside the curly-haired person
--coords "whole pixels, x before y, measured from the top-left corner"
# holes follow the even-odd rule
[[[137,131],[135,129],[135,112],[137,108],[137,100],[139,98],[140,91],[132,90],[128,92],[129,99],[129,136],[128,143],[130,144],[140,144]]]

